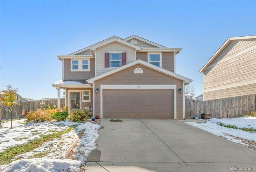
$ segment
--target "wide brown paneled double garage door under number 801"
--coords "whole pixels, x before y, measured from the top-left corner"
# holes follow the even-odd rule
[[[173,119],[173,90],[103,90],[103,118]]]

